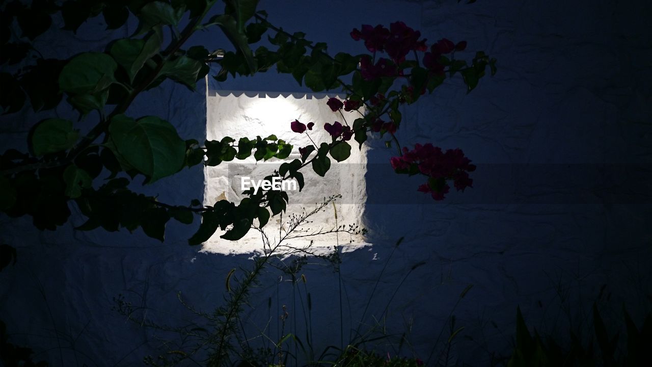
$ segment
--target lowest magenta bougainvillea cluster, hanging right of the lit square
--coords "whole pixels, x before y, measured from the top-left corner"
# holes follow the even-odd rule
[[[451,188],[447,180],[453,180],[458,191],[473,187],[473,180],[468,172],[475,170],[471,160],[464,156],[460,149],[449,149],[445,153],[432,144],[416,144],[413,150],[403,148],[403,155],[390,159],[392,168],[397,173],[428,176],[428,183],[419,186],[418,191],[430,193],[435,200],[444,199]]]

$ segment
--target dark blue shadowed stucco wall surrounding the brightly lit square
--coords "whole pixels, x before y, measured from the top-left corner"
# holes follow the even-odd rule
[[[274,24],[327,42],[332,53],[364,52],[361,42],[349,38],[353,27],[402,20],[430,42],[467,40],[469,50],[498,60],[496,76],[483,78],[470,94],[453,79],[406,106],[398,133],[406,146],[462,148],[478,165],[473,189],[430,200],[416,191],[419,178],[393,173],[394,150],[380,138],[368,141],[363,222],[371,246],[345,253],[339,276],[326,266],[303,271],[317,351],[346,345],[350,330],[360,326],[364,332],[378,322],[390,334],[406,333],[401,353],[426,360],[437,340],[447,339],[447,329],[440,332],[454,309],[456,326],[465,327],[454,356],[488,366],[491,351],[511,349],[516,306],[531,327],[566,333],[566,315],[585,317],[603,284],[614,317],[624,302],[642,320],[652,294],[652,3],[263,0],[259,8]],[[93,20],[76,36],[53,31],[35,46],[46,57],[69,57],[101,50],[134,27],[96,33],[103,27]],[[196,35],[188,46],[194,44],[229,47],[212,33]],[[201,140],[205,88],[308,91],[274,71],[222,83],[209,78],[208,87],[200,83],[195,93],[166,82],[138,97],[128,114],[162,116],[183,138]],[[65,106],[56,111],[74,116]],[[42,116],[29,108],[3,116],[3,150],[25,150],[24,136]],[[203,183],[202,167],[193,167],[134,187],[186,204],[202,199]],[[148,320],[183,325],[198,318],[181,305],[178,292],[210,312],[224,302],[231,268],[251,266],[248,254],[188,246],[198,221],[170,221],[164,243],[140,231],[74,231],[82,221],[74,212],[57,231],[38,232],[30,218],[0,216],[3,242],[18,248],[18,263],[0,273],[0,314],[12,342],[33,347],[53,366],[140,366],[143,355],[156,355],[162,340],[174,337],[126,321],[111,310],[115,296],[146,308]],[[394,249],[400,237],[404,241]],[[281,275],[269,270],[254,289],[252,308],[244,313],[249,336],[271,320],[266,332],[276,338],[282,305],[290,315],[286,328],[305,334],[299,299],[306,297],[304,286],[297,293]],[[379,348],[394,355],[397,346]],[[430,365],[435,362],[436,353]]]

